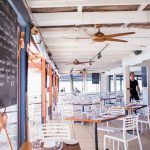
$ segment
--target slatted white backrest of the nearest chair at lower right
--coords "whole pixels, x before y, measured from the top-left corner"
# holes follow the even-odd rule
[[[138,131],[138,115],[128,115],[123,120],[123,132],[125,133],[127,130]]]

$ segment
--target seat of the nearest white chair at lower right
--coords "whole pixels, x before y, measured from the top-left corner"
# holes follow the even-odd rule
[[[124,141],[122,132],[115,132],[115,133],[106,134],[105,137],[110,138],[110,139],[113,138],[114,140],[121,141],[121,142]],[[137,139],[136,135],[129,134],[129,133],[126,133],[125,137],[126,137],[127,142]]]

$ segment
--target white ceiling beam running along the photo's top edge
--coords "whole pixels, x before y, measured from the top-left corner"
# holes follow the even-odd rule
[[[29,1],[29,0],[28,0]],[[30,0],[32,8],[149,4],[149,0]]]

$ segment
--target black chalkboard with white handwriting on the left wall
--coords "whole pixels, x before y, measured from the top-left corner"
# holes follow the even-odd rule
[[[0,108],[17,103],[17,17],[0,0]]]

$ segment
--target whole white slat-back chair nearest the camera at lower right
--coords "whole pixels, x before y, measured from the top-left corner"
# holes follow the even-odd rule
[[[128,130],[135,130],[137,134],[127,133]],[[142,143],[139,135],[139,129],[138,129],[138,115],[128,115],[123,120],[123,131],[122,132],[114,132],[111,134],[104,135],[104,150],[106,149],[106,139],[112,139],[113,140],[113,150],[114,150],[114,141],[118,142],[118,150],[119,150],[119,142],[123,142],[124,149],[127,150],[128,142],[133,141],[135,139],[138,139],[140,150],[143,150]]]

